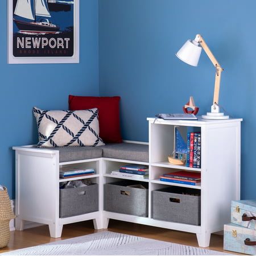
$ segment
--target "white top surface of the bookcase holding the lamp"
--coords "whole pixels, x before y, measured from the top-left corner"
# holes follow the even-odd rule
[[[161,118],[148,117],[147,121],[165,125],[187,125],[187,126],[200,126],[200,125],[216,125],[218,123],[232,123],[242,122],[242,118],[229,118],[229,119],[202,119],[201,116],[197,120],[164,120]]]

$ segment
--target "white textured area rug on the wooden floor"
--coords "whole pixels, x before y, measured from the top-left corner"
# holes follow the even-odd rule
[[[102,231],[1,255],[232,255],[177,243]]]

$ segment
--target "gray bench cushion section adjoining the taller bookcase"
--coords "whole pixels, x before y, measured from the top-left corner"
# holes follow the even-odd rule
[[[101,147],[104,158],[115,158],[148,163],[148,145],[137,143],[106,144]]]

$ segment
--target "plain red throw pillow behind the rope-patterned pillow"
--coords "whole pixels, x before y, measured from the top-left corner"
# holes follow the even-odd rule
[[[104,142],[121,143],[120,97],[84,97],[69,95],[69,110],[98,109],[100,137]]]

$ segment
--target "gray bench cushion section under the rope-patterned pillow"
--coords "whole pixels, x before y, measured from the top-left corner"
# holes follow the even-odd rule
[[[52,149],[59,150],[60,163],[102,157],[101,147],[52,147]]]

